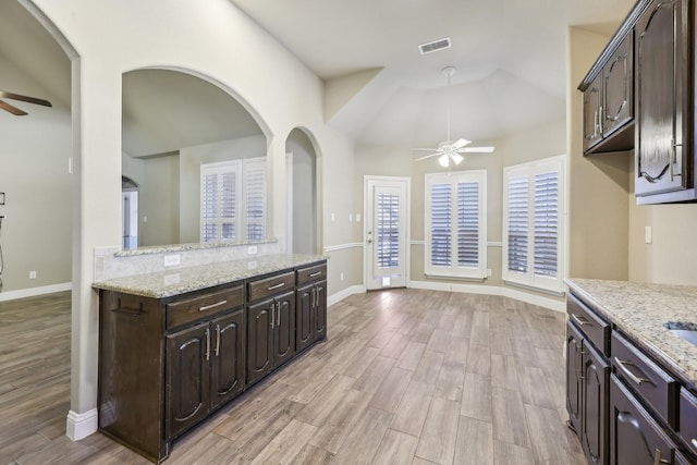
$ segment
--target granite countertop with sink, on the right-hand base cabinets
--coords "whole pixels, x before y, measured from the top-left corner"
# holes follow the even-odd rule
[[[697,389],[697,345],[663,327],[697,323],[697,286],[590,279],[565,280],[571,292]]]

